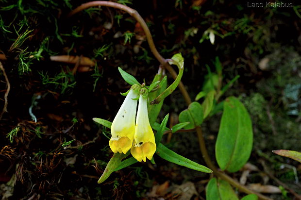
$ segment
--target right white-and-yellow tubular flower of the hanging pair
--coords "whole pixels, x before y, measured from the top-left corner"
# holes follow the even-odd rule
[[[149,121],[147,98],[140,94],[136,117],[134,145],[131,149],[131,153],[137,161],[141,162],[143,160],[146,162],[146,158],[151,160],[155,151],[155,136],[152,132]]]

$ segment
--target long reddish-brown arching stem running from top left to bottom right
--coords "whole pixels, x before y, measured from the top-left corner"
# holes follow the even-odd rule
[[[119,4],[119,3],[99,0],[99,1],[90,1],[90,2],[87,2],[87,3],[84,3],[84,4],[80,5],[79,7],[75,8],[73,11],[71,11],[68,14],[68,17],[70,17],[70,16],[72,16],[72,15],[74,15],[74,14],[76,14],[76,13],[78,13],[78,12],[80,12],[80,11],[86,9],[86,8],[92,7],[92,6],[107,6],[107,7],[118,8],[120,10],[123,10],[123,11],[129,13],[131,16],[133,16],[138,21],[141,28],[143,29],[143,31],[146,35],[147,41],[149,43],[152,54],[160,62],[161,66],[165,67],[169,71],[169,73],[171,74],[173,79],[177,78],[177,76],[178,76],[177,72],[167,63],[167,60],[165,58],[163,58],[161,56],[161,54],[158,52],[158,50],[156,49],[155,44],[152,40],[152,36],[151,36],[151,32],[150,32],[149,27],[147,26],[144,19],[139,15],[139,13],[136,10],[134,10],[134,9],[132,9],[132,8],[126,6],[126,5]],[[181,91],[181,93],[184,97],[184,100],[185,100],[186,104],[189,105],[191,103],[191,99],[189,97],[189,94],[188,94],[184,84],[182,82],[180,82],[178,87],[179,87],[179,89],[180,89],[180,91]],[[265,197],[262,194],[251,191],[246,186],[241,185],[240,183],[238,183],[237,181],[232,179],[230,176],[226,175],[223,172],[218,171],[217,167],[214,166],[214,164],[211,162],[210,157],[208,155],[208,152],[207,152],[207,149],[206,149],[206,146],[205,146],[204,137],[203,137],[202,132],[201,132],[201,127],[196,127],[196,131],[198,133],[200,149],[201,149],[201,153],[203,155],[203,158],[205,160],[205,163],[207,164],[207,166],[210,169],[213,170],[213,173],[217,177],[219,177],[221,179],[224,179],[225,181],[229,182],[230,184],[232,184],[234,187],[238,188],[242,192],[245,192],[247,194],[255,194],[259,197],[259,199],[262,199],[262,200],[271,200],[271,199],[269,199],[268,197]]]

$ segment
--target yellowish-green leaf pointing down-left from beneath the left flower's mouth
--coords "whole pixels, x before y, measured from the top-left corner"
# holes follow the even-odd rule
[[[121,160],[123,158],[127,157],[128,155],[129,155],[129,152],[127,154],[114,153],[114,155],[108,162],[107,166],[105,167],[105,169],[97,183],[102,183],[105,180],[107,180],[107,178],[109,178],[109,176],[112,174],[112,172],[115,171],[116,167],[120,165]]]

